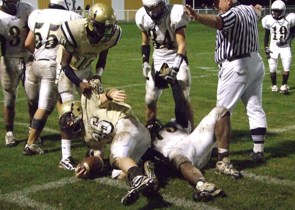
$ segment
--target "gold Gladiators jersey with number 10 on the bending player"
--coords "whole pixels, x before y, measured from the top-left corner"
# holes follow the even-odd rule
[[[58,29],[60,46],[57,59],[60,62],[62,51],[73,52],[70,63],[74,70],[85,69],[96,59],[99,53],[117,45],[121,39],[122,30],[117,26],[111,40],[104,42],[105,37],[97,44],[91,44],[86,35],[86,18],[64,22]]]

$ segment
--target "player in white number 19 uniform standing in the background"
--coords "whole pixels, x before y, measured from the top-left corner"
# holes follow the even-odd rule
[[[283,1],[274,1],[271,5],[271,15],[266,15],[262,19],[262,25],[265,28],[264,47],[271,72],[271,91],[273,93],[278,92],[276,71],[280,57],[283,64],[283,81],[280,93],[288,95],[287,81],[292,59],[291,41],[295,37],[295,14],[290,13],[286,16],[285,10],[286,6]],[[271,42],[268,47],[269,35],[271,35]]]

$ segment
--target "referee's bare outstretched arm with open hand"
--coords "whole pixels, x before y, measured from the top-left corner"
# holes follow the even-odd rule
[[[189,15],[190,18],[199,21],[201,24],[214,29],[222,29],[222,19],[219,15],[213,14],[197,14],[196,11],[188,4],[186,4],[186,9],[183,10],[184,13]]]

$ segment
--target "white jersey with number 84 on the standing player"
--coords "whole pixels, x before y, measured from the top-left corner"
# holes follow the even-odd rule
[[[186,27],[190,18],[183,13],[185,7],[179,4],[168,5],[165,17],[159,21],[154,21],[148,16],[145,8],[142,7],[136,12],[135,20],[140,30],[148,32],[154,45],[153,60],[155,70],[159,71],[162,64],[166,62],[168,66],[173,65],[173,61],[178,51],[175,32]],[[182,62],[181,65],[187,65]]]

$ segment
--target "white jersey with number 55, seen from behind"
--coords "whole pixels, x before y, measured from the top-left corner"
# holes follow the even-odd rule
[[[60,9],[34,10],[28,20],[30,30],[35,35],[36,49],[34,57],[55,60],[59,42],[57,31],[60,25],[68,20],[82,19],[76,12]]]

